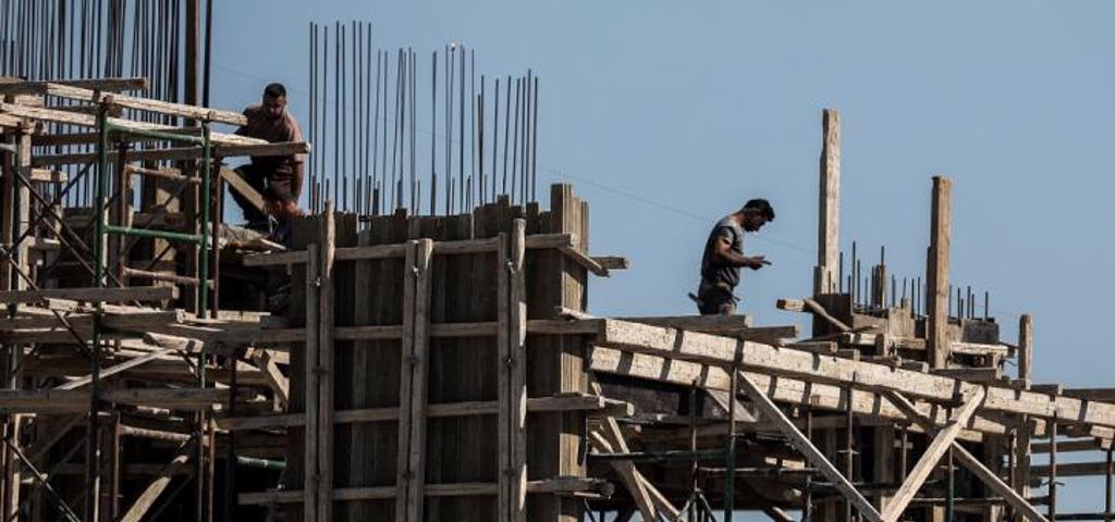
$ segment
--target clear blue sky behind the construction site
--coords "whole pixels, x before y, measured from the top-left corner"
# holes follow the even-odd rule
[[[1035,314],[1037,382],[1115,385],[1115,3],[217,4],[216,106],[280,80],[304,120],[311,20],[370,20],[377,47],[419,57],[463,41],[477,73],[533,68],[540,185],[572,181],[594,253],[632,260],[593,283],[599,314],[691,313],[709,226],[763,196],[778,218],[747,248],[775,265],[747,275],[743,309],[807,326],[774,303],[811,288],[820,111],[838,108],[844,249],[886,245],[892,272],[922,273],[930,177],[951,177],[953,280],[991,292],[1007,338]],[[1061,511],[1102,508],[1098,487],[1068,490]]]

